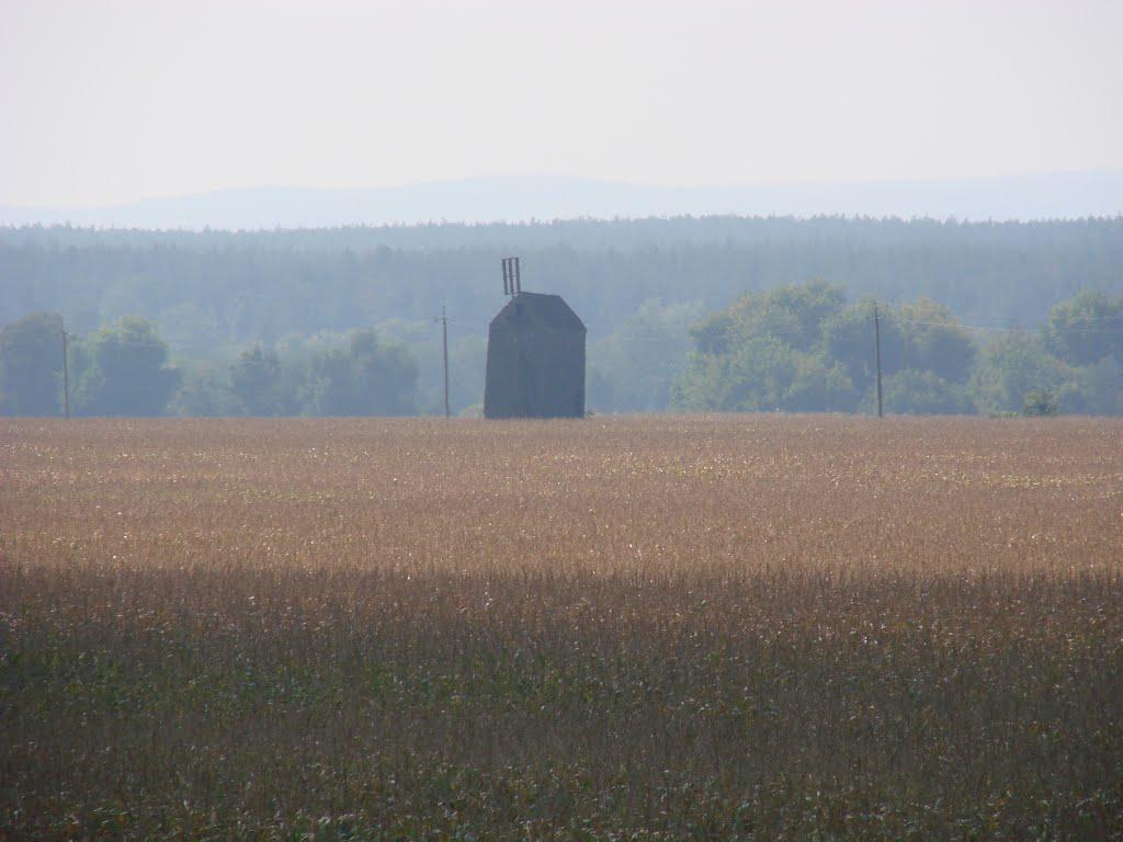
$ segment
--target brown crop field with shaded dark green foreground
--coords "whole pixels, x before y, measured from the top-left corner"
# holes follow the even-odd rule
[[[1123,839],[1123,423],[0,421],[0,839]]]

